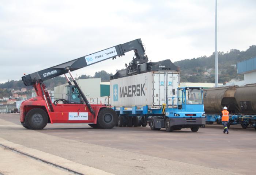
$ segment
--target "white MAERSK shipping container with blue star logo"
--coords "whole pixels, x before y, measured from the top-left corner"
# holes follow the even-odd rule
[[[172,90],[178,88],[178,85],[177,71],[154,71],[112,79],[110,105],[159,107],[163,103],[167,104],[167,100],[172,105]],[[177,105],[177,101],[174,101],[174,105]]]

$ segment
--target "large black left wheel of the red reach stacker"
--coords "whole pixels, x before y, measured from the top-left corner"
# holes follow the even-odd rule
[[[29,129],[44,129],[48,123],[48,114],[41,108],[33,108],[26,114],[25,123]]]

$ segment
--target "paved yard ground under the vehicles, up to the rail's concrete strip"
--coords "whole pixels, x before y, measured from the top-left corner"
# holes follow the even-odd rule
[[[20,125],[18,114],[0,114],[3,139],[113,174],[254,174],[255,134],[231,126],[224,135],[221,125],[196,133],[50,124],[32,131]]]

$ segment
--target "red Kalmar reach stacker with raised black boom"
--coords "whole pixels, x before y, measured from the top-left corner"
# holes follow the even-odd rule
[[[127,66],[127,71],[138,67],[148,61],[141,39],[132,40],[105,50],[95,52],[84,57],[62,63],[48,69],[25,75],[22,81],[26,86],[33,86],[37,97],[23,101],[20,105],[20,122],[27,129],[43,129],[48,123],[75,124],[86,123],[93,128],[110,129],[117,124],[117,114],[112,108],[105,105],[91,105],[82,92],[71,71],[104,61],[123,56],[125,52],[134,51],[135,57],[132,64]],[[68,78],[69,74],[71,81]],[[64,75],[68,82],[68,94],[65,99],[52,102],[46,89],[45,80]],[[73,83],[74,85],[73,85]],[[90,85],[88,85],[90,86]]]

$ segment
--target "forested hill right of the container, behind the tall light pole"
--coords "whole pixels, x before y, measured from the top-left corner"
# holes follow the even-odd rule
[[[250,46],[246,51],[231,49],[230,52],[218,52],[219,83],[231,79],[242,80],[243,75],[237,74],[237,62],[256,57],[256,45]],[[214,83],[215,53],[210,57],[184,59],[174,62],[180,66],[181,82],[208,82]]]

